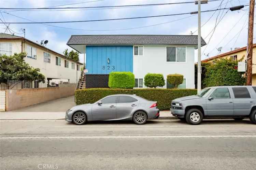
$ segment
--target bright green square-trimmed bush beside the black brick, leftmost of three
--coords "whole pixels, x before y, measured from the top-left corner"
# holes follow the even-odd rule
[[[109,74],[110,88],[133,88],[135,78],[132,72],[111,72]]]

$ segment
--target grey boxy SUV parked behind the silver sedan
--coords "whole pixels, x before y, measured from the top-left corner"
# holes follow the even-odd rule
[[[198,95],[177,98],[171,113],[189,124],[200,124],[203,118],[250,118],[256,124],[256,86],[217,86],[204,88]]]

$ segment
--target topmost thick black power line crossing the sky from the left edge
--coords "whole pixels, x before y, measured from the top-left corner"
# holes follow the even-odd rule
[[[220,1],[220,0],[209,0]],[[117,6],[84,6],[84,7],[42,7],[42,8],[0,8],[2,10],[42,10],[42,9],[82,9],[82,8],[106,8],[106,7],[129,7],[129,6],[151,6],[151,5],[172,5],[172,4],[186,4],[186,3],[195,3],[195,1],[190,2],[173,2],[173,3],[158,3],[158,4],[138,4],[138,5],[117,5]]]

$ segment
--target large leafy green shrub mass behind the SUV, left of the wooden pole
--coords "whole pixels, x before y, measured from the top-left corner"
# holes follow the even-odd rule
[[[243,58],[239,61],[242,61]],[[214,63],[207,66],[203,85],[211,86],[234,86],[244,85],[244,72],[237,71],[238,61],[227,58],[215,60]]]

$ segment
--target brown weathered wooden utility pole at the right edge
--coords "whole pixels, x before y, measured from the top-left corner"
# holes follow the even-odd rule
[[[254,25],[254,3],[255,0],[250,0],[249,23],[248,23],[248,49],[247,49],[247,76],[246,85],[252,85],[252,66],[253,66],[253,25]]]

